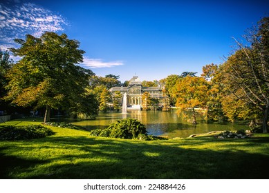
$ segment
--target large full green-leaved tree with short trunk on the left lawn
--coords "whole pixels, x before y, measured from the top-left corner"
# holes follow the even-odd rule
[[[6,100],[19,106],[45,107],[44,122],[50,120],[51,108],[69,110],[83,101],[93,72],[75,65],[83,61],[84,54],[78,41],[66,34],[45,32],[40,38],[28,34],[15,42],[21,47],[10,50],[21,59],[7,74]]]

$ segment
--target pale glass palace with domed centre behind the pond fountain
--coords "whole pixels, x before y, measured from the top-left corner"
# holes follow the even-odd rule
[[[133,77],[129,81],[127,87],[113,87],[109,90],[112,93],[112,99],[115,96],[115,92],[120,91],[122,97],[124,93],[127,93],[127,107],[129,109],[141,109],[142,107],[142,94],[149,93],[149,96],[153,99],[163,99],[163,90],[160,87],[143,87],[142,82],[138,77]]]

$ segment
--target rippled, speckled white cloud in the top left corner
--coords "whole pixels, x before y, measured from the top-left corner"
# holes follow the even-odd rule
[[[68,23],[61,15],[41,8],[34,3],[0,3],[0,44],[14,44],[13,39],[24,39],[26,34],[35,37],[45,31],[64,30]]]

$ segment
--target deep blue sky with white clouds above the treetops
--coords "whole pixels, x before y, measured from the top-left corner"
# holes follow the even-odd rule
[[[26,1],[0,0],[0,45],[49,30],[80,41],[84,68],[98,76],[135,74],[160,80],[223,63],[262,17],[265,1]]]

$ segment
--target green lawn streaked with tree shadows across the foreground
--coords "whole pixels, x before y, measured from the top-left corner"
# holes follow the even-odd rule
[[[10,125],[41,120],[9,121]],[[1,179],[268,179],[269,134],[251,139],[138,141],[48,128],[43,139],[0,141]]]

